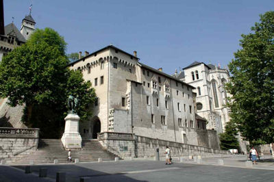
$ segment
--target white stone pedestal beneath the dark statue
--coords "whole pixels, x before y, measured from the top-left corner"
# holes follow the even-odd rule
[[[79,133],[79,119],[77,114],[68,114],[64,120],[66,125],[61,138],[64,148],[82,148],[82,138]]]

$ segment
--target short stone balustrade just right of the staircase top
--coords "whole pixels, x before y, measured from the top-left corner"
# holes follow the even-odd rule
[[[134,133],[103,132],[97,136],[99,140],[134,140]]]

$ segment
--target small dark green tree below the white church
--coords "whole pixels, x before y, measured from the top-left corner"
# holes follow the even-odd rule
[[[228,149],[240,149],[237,136],[236,124],[233,122],[227,122],[225,125],[225,133],[220,133],[220,146],[222,150]]]

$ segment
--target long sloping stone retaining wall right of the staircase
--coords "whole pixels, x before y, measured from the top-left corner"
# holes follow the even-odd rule
[[[171,154],[173,157],[228,154],[227,151],[221,151],[219,149],[147,138],[135,135],[134,133],[99,133],[99,142],[108,151],[111,151],[122,158],[145,156],[155,157],[155,151],[157,148],[159,148],[160,157],[164,157],[166,146],[171,148]]]

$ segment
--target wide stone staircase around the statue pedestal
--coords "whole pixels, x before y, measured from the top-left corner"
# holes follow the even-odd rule
[[[79,161],[98,161],[102,158],[103,161],[114,160],[113,153],[106,151],[97,140],[82,141],[82,149],[71,150],[72,159]],[[66,163],[68,151],[64,150],[61,140],[43,139],[39,141],[38,150],[26,155],[19,155],[12,160],[16,164],[29,164],[34,161],[34,164],[53,164],[54,159],[58,159],[58,163]],[[119,157],[119,159],[121,159]]]

